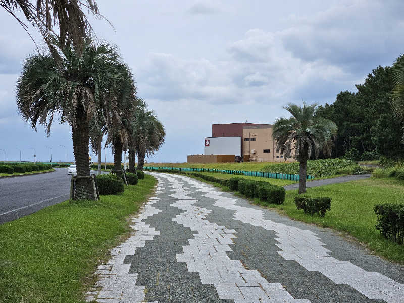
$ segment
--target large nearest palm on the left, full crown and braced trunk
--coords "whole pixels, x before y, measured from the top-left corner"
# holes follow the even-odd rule
[[[116,47],[107,43],[85,42],[83,52],[73,45],[58,48],[62,61],[51,54],[33,55],[23,64],[17,83],[17,105],[26,121],[44,125],[49,136],[55,116],[72,127],[73,153],[77,165],[77,198],[92,198],[88,194],[86,176],[90,175],[89,122],[103,113],[107,121],[118,121],[120,91],[127,86],[122,75],[126,66]],[[87,192],[87,193],[86,193]]]

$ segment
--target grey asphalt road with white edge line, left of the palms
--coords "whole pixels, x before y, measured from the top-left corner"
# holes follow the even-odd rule
[[[45,174],[0,178],[0,224],[66,201],[70,180],[65,168]]]

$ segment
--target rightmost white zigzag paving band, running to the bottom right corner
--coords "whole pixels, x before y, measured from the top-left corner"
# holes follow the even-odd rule
[[[331,251],[324,247],[326,244],[314,232],[265,220],[262,210],[239,206],[236,198],[224,197],[223,192],[208,184],[180,175],[175,180],[173,183],[199,188],[197,191],[205,193],[203,196],[216,200],[215,206],[236,211],[234,220],[273,230],[279,242],[278,254],[285,260],[294,260],[309,271],[318,271],[335,283],[348,284],[369,299],[384,300],[387,303],[404,302],[403,284],[330,256],[328,253]]]

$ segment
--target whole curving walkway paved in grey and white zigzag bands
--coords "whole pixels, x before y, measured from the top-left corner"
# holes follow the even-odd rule
[[[98,267],[88,301],[404,301],[402,266],[329,229],[183,175],[151,174],[155,195],[132,219],[130,238]]]

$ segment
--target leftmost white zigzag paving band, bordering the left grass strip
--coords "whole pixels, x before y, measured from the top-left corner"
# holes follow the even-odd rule
[[[155,231],[155,228],[151,228],[142,221],[161,212],[153,206],[157,200],[159,199],[149,199],[139,217],[133,218],[131,221],[133,223],[130,225],[133,229],[131,237],[111,249],[111,259],[106,264],[98,266],[95,273],[99,275],[100,279],[85,294],[86,301],[94,300],[99,303],[144,302],[145,286],[136,286],[137,274],[130,274],[131,264],[124,264],[123,261],[126,255],[134,255],[137,247],[144,247],[146,241],[151,241],[154,236],[160,235],[160,231]]]

